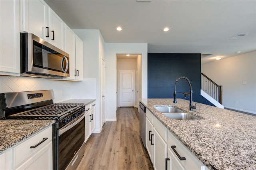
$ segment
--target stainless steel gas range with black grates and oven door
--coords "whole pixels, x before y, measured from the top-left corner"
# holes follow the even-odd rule
[[[76,169],[84,156],[85,104],[53,103],[52,90],[1,93],[1,119],[54,119],[53,169]]]

